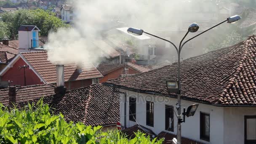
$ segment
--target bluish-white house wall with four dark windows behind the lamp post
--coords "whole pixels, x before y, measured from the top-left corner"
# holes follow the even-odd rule
[[[154,102],[154,127],[146,125],[146,102],[139,101],[139,103],[136,104],[136,121],[139,125],[143,125],[144,127],[151,129],[156,134],[161,131],[165,131],[165,104],[174,106],[176,111],[175,104],[177,99],[136,93],[123,89],[120,91],[127,93],[126,127],[131,127],[136,124],[136,122],[129,121],[129,96],[136,97],[137,100],[147,97],[147,101],[153,101],[153,98],[157,98],[158,102]],[[124,126],[124,94],[120,94],[120,98],[120,122]],[[195,102],[181,100],[181,104],[183,110],[183,107],[187,108],[189,105],[195,104]],[[210,114],[210,142],[200,139],[200,111]],[[174,114],[174,132],[168,132],[176,134],[176,125],[177,118]],[[186,123],[182,123],[181,128],[182,136],[186,138],[201,141],[206,144],[224,144],[224,108],[214,107],[207,104],[199,104],[195,115],[193,117],[186,117]]]

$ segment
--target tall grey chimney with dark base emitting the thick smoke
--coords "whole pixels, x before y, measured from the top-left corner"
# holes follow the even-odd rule
[[[64,86],[64,65],[57,64],[56,65],[56,88],[54,89],[55,92],[55,99],[59,99],[66,93],[67,88]]]

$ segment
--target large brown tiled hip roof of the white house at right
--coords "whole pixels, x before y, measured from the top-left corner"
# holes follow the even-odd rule
[[[256,105],[255,56],[253,35],[236,45],[182,61],[181,99],[216,105]],[[166,80],[171,79],[177,79],[177,63],[107,83],[168,95]]]

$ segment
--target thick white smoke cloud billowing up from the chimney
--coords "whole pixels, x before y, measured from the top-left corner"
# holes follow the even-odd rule
[[[171,27],[181,11],[186,10],[187,0],[76,0],[74,2],[74,28],[59,29],[48,35],[49,59],[62,63],[99,61],[91,45],[101,39],[102,31],[114,28],[120,21],[126,27],[154,31]],[[171,35],[171,34],[170,34]],[[104,35],[105,37],[105,35]],[[117,37],[118,38],[118,37]]]

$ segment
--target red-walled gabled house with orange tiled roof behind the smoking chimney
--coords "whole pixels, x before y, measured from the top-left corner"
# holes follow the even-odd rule
[[[24,65],[28,67],[19,69]],[[101,73],[90,62],[84,62],[82,66],[66,64],[64,67],[65,86],[68,89],[99,83],[98,79],[102,77]],[[56,64],[48,60],[47,51],[19,53],[0,72],[0,76],[1,81],[10,80],[12,85],[55,84]]]

